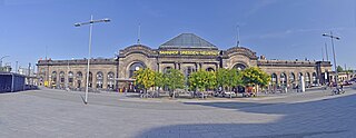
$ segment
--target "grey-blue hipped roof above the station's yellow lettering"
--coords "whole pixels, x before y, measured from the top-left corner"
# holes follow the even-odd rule
[[[208,49],[218,49],[216,46],[204,40],[202,38],[194,33],[181,33],[169,41],[159,46],[159,49],[167,48],[208,48]]]

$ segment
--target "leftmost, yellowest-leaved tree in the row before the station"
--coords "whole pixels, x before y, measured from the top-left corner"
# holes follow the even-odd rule
[[[136,79],[135,83],[144,87],[145,92],[155,85],[155,71],[149,68],[135,71],[134,78]]]

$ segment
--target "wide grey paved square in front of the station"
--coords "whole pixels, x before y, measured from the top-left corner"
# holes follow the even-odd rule
[[[233,99],[139,99],[122,93],[0,93],[1,138],[350,138],[356,88]]]

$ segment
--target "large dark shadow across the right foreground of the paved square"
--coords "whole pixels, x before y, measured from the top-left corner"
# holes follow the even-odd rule
[[[356,135],[356,120],[354,119],[356,116],[355,101],[356,96],[352,95],[299,103],[195,102],[188,105],[236,109],[237,111],[265,114],[266,116],[277,114],[283,115],[283,117],[275,121],[260,124],[188,124],[164,126],[146,130],[137,137],[354,137]]]

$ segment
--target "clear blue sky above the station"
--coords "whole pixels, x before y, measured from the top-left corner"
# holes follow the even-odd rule
[[[337,65],[356,69],[356,0],[0,0],[3,65],[87,58],[89,26],[73,24],[91,14],[111,19],[93,24],[92,58],[137,43],[140,24],[141,43],[155,49],[191,32],[224,50],[239,30],[240,46],[267,59],[323,60],[327,45],[332,60],[322,34],[333,31]]]

